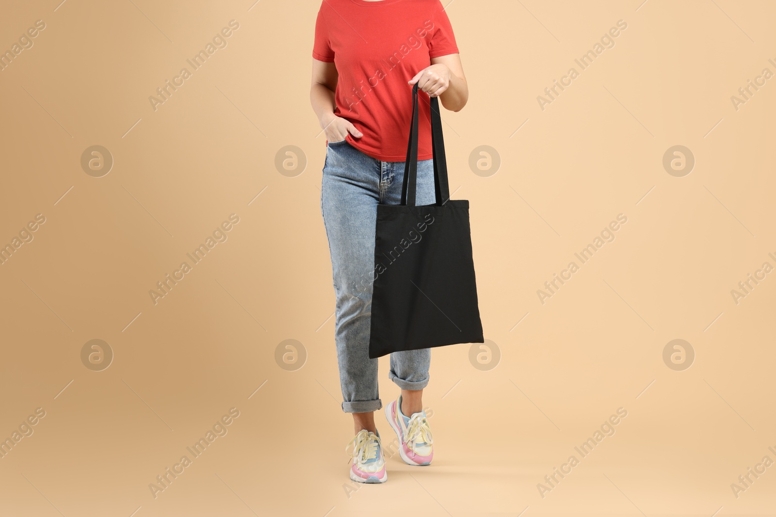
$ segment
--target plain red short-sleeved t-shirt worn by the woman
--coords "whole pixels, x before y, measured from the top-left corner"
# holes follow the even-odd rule
[[[439,0],[324,0],[315,22],[313,57],[337,67],[338,115],[363,134],[345,137],[383,161],[404,161],[412,117],[412,87],[431,57],[458,53]],[[417,159],[428,160],[431,122],[428,94],[419,93]]]

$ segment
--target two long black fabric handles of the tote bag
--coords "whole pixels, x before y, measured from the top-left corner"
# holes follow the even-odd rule
[[[434,190],[436,205],[444,205],[450,198],[447,180],[447,158],[445,140],[442,136],[442,115],[439,114],[439,98],[431,99],[431,146],[434,153]],[[407,143],[407,160],[404,161],[404,184],[401,188],[401,204],[415,206],[417,191],[417,83],[412,87],[412,121],[410,122],[410,140]]]

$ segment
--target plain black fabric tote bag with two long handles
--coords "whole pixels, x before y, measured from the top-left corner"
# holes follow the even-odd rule
[[[431,97],[436,203],[415,205],[417,84],[400,205],[377,205],[369,357],[484,343],[469,202],[450,200],[439,101]]]

